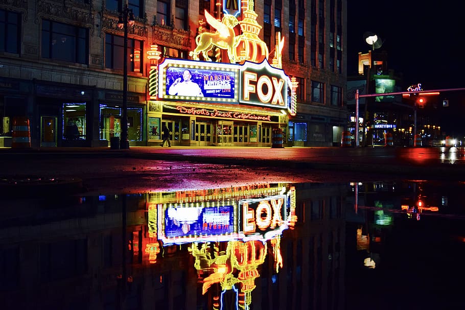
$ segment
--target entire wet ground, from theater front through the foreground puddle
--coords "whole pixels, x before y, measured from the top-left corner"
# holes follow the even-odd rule
[[[463,150],[396,149],[0,150],[0,308],[464,308]]]

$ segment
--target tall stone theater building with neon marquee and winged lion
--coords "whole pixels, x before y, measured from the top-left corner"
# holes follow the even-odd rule
[[[131,146],[158,146],[163,125],[175,146],[266,147],[275,129],[281,130],[283,146],[340,144],[348,121],[346,1],[129,0],[127,6],[134,25],[128,23],[125,52],[124,29],[118,27],[121,0],[0,4],[1,144],[11,144],[15,122],[27,120],[32,147],[109,146],[122,134],[124,111]],[[231,40],[213,40],[218,44],[210,50],[199,45],[206,42],[200,38],[220,30],[206,14],[216,21],[234,16],[222,22],[233,31]],[[169,70],[179,67],[174,61],[179,59],[204,70],[193,75],[202,97],[169,95],[163,88],[173,83]],[[263,64],[255,68],[263,79],[256,73],[255,83],[242,74],[248,62]],[[233,88],[217,82],[223,88],[205,89],[206,80],[196,81],[228,65],[233,73],[223,77],[233,78],[228,84]],[[245,78],[251,82],[244,84]],[[214,97],[218,90],[226,97]],[[251,93],[259,100],[247,101]]]

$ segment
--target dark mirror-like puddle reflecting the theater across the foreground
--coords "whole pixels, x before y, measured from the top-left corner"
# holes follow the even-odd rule
[[[256,180],[1,200],[1,308],[463,308],[464,186]]]

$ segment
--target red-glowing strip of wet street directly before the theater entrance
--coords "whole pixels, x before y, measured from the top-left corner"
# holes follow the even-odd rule
[[[314,147],[130,147],[107,148],[0,148],[0,160],[65,157],[139,158],[246,166],[354,171],[441,178],[465,178],[463,148],[314,148]]]

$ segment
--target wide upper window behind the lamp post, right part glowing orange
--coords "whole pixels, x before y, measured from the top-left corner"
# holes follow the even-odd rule
[[[124,58],[124,37],[105,34],[105,67],[109,69],[123,70]],[[128,71],[141,72],[144,64],[143,58],[140,61],[133,61],[133,55],[144,55],[144,42],[128,39]]]

